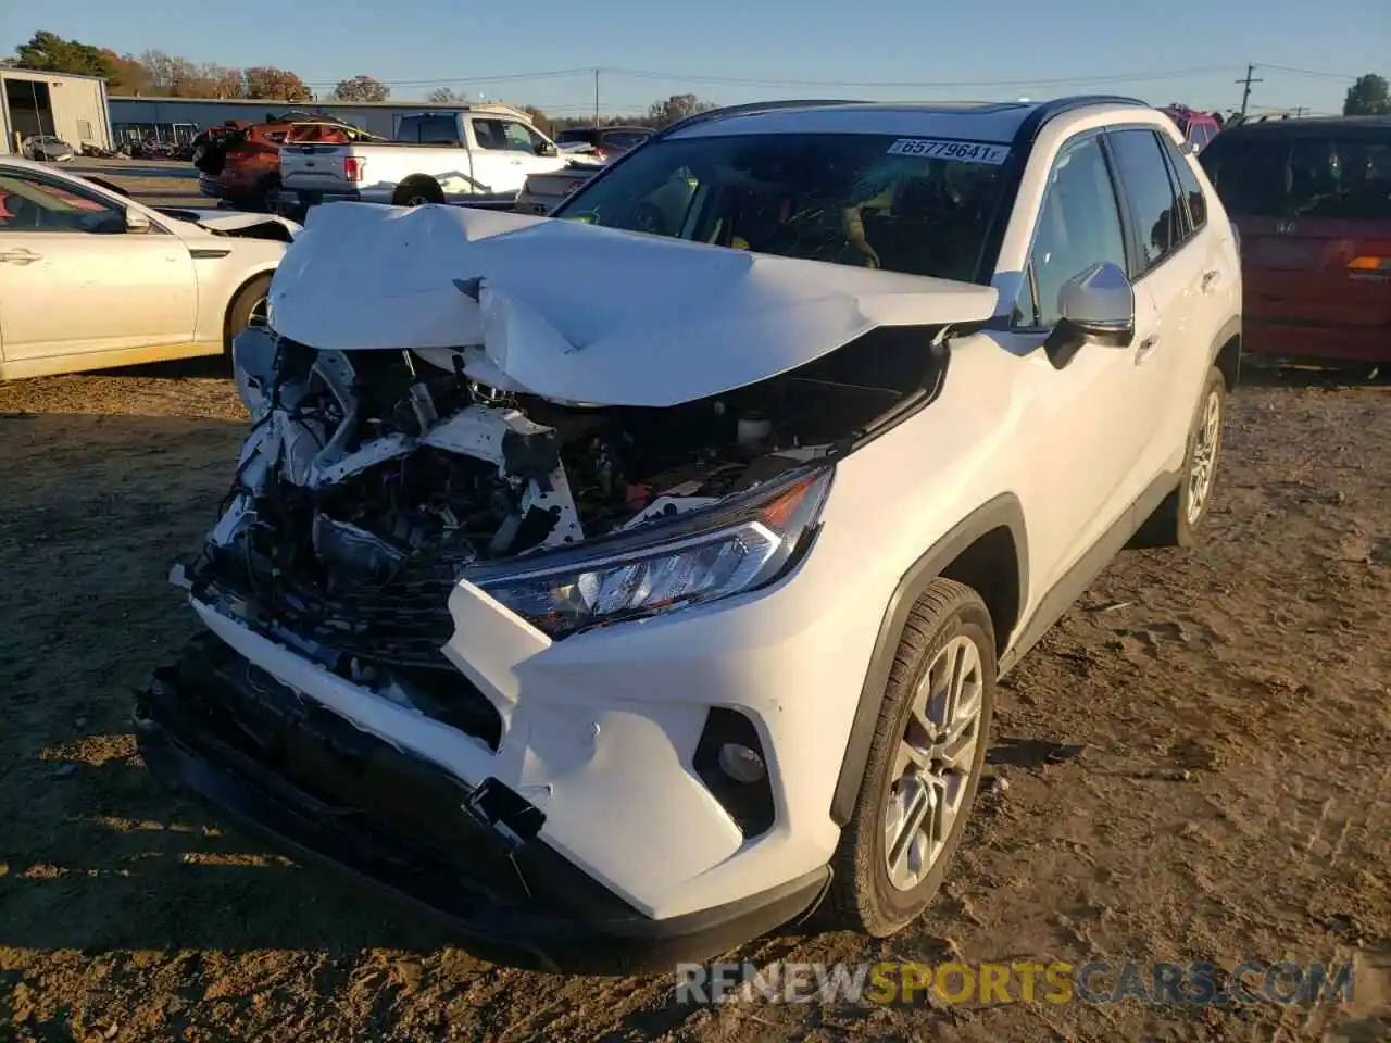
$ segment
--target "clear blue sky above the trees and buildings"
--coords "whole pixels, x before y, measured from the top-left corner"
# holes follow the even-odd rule
[[[36,29],[193,61],[278,65],[327,93],[359,72],[415,100],[435,86],[606,113],[696,93],[1004,99],[1127,93],[1235,107],[1341,108],[1363,72],[1391,76],[1391,0],[43,0],[0,4],[0,50]],[[548,75],[537,75],[548,74]],[[798,82],[793,82],[798,81]],[[1066,82],[1064,82],[1066,81]]]

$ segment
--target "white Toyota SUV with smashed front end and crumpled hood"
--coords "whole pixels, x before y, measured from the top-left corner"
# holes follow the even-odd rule
[[[786,103],[556,218],[312,214],[146,762],[517,962],[899,930],[997,679],[1207,510],[1221,204],[1138,102]]]

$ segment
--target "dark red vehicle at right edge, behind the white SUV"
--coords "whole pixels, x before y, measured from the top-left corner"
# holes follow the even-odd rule
[[[1200,161],[1241,234],[1242,349],[1391,362],[1391,117],[1242,124]]]

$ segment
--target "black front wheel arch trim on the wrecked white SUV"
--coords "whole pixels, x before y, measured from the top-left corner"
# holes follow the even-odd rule
[[[889,598],[889,605],[885,608],[883,617],[879,622],[879,634],[875,638],[874,652],[869,656],[869,669],[865,672],[865,680],[860,688],[860,701],[855,705],[855,716],[850,725],[850,738],[846,741],[846,754],[840,762],[840,775],[836,779],[836,790],[830,798],[830,818],[837,826],[844,826],[850,822],[850,816],[854,812],[860,784],[865,773],[865,763],[869,759],[869,745],[874,741],[875,723],[879,719],[879,705],[883,701],[883,690],[889,681],[893,656],[899,648],[903,627],[908,620],[908,612],[932,581],[942,576],[943,570],[963,551],[986,533],[1002,527],[1008,528],[1014,538],[1020,573],[1018,604],[1022,608],[1028,604],[1029,590],[1028,533],[1024,524],[1024,506],[1020,503],[1018,496],[1010,492],[986,501],[961,519],[926,553],[918,558],[899,580],[899,585],[894,588],[893,597]],[[1015,620],[1017,629],[1018,620]],[[1002,648],[1008,647],[1008,636],[1002,634],[996,637]]]

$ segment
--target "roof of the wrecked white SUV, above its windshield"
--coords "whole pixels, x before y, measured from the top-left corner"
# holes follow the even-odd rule
[[[672,128],[673,138],[743,134],[903,134],[1013,142],[1031,121],[1093,106],[1143,107],[1128,97],[1053,102],[771,102],[716,110]],[[1152,110],[1150,110],[1152,111]]]

